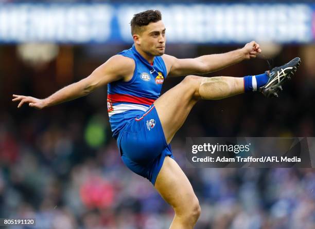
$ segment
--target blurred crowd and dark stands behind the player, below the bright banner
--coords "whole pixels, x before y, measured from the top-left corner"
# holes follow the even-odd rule
[[[55,60],[24,63],[0,47],[0,218],[36,218],[9,228],[168,228],[172,209],[144,178],[122,164],[111,137],[106,88],[44,110],[17,109],[12,94],[44,98],[89,75],[127,46],[60,46]],[[237,47],[169,46],[178,58]],[[263,46],[264,48],[264,46]],[[185,137],[314,136],[315,46],[284,46],[274,66],[302,59],[278,99],[249,93],[200,101],[172,142],[200,200],[197,229],[315,228],[312,168],[185,168]],[[263,59],[209,74],[242,77],[268,70]],[[180,82],[168,79],[164,91]]]

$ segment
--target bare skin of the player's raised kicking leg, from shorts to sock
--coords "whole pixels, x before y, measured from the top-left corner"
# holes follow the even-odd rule
[[[243,78],[188,75],[154,102],[165,139],[170,143],[199,99],[219,100],[244,92]]]

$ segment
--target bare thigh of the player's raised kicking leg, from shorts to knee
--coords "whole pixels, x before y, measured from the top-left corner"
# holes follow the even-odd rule
[[[191,108],[198,101],[196,90],[201,79],[202,77],[190,75],[154,102],[167,144],[183,125]]]

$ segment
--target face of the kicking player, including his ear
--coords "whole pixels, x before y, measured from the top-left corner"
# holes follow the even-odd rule
[[[135,35],[134,35],[135,36]],[[135,43],[149,55],[160,56],[165,52],[165,26],[162,21],[151,22],[137,34]]]

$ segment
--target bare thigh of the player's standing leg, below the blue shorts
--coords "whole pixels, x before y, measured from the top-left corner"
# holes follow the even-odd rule
[[[178,214],[185,214],[191,204],[198,203],[188,178],[170,157],[165,157],[154,187]]]

